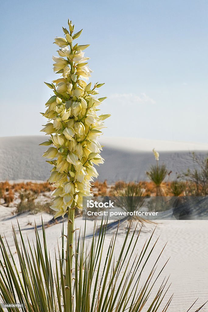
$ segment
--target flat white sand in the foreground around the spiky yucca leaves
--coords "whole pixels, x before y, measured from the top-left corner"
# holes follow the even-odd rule
[[[18,217],[23,236],[28,235],[29,239],[34,238],[34,231],[29,229],[31,225],[28,222],[36,220],[37,224],[41,224],[41,215],[23,214]],[[43,219],[47,222],[51,219],[51,215],[43,214]],[[76,227],[84,226],[82,218],[76,218]],[[12,223],[17,225],[16,217],[12,216],[12,208],[3,207],[0,205],[0,221],[1,235],[5,233],[12,252],[15,252],[14,243],[12,240],[11,229]],[[66,226],[66,222],[65,222]],[[54,246],[56,246],[57,238],[60,237],[62,224],[56,224],[46,229],[46,237],[48,247],[51,250],[51,255],[54,254]],[[141,249],[144,241],[151,235],[153,230],[152,225],[146,227],[138,242],[138,250]],[[166,242],[167,246],[159,261],[159,268],[170,260],[164,270],[164,275],[170,276],[172,282],[169,294],[174,292],[170,312],[185,312],[190,305],[199,297],[198,303],[194,306],[199,307],[208,299],[208,221],[162,221],[158,224],[154,238],[159,235],[157,247],[149,260],[147,268],[150,268],[156,260],[156,256],[162,250]],[[93,232],[93,221],[87,221],[87,233]],[[111,238],[108,234],[107,240]],[[119,234],[118,243],[116,244],[116,253],[118,254],[123,243],[124,236]],[[17,255],[14,254],[15,259]],[[147,272],[148,273],[148,272]],[[196,310],[196,309],[195,309]],[[195,311],[194,310],[194,311]],[[192,310],[193,311],[193,310]],[[208,311],[208,304],[201,310]]]

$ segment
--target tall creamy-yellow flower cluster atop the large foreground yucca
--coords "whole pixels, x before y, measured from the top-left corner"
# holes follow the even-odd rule
[[[102,147],[97,138],[102,134],[104,119],[110,115],[97,115],[99,105],[106,98],[97,98],[97,88],[103,84],[86,81],[91,77],[87,65],[89,57],[83,50],[89,45],[74,45],[73,40],[82,32],[74,32],[74,25],[68,21],[69,31],[63,27],[64,37],[56,37],[59,56],[53,56],[54,71],[62,77],[46,83],[54,95],[46,103],[42,113],[49,122],[41,130],[50,134],[50,139],[40,145],[51,145],[43,157],[54,167],[49,178],[56,187],[51,208],[55,218],[75,207],[82,208],[82,197],[90,196],[90,181],[97,178],[94,164],[103,163]],[[86,81],[85,81],[86,80]]]

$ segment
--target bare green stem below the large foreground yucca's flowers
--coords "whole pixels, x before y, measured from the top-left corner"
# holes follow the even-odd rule
[[[66,295],[66,310],[70,311],[70,300],[72,291],[72,257],[73,257],[73,241],[74,241],[74,221],[75,209],[69,209],[68,225],[67,225],[67,246],[66,246],[66,266],[65,266],[65,295]],[[70,261],[70,265],[68,264]],[[69,271],[70,267],[70,271]]]

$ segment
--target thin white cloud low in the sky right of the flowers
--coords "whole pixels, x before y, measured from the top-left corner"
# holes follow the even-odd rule
[[[131,102],[135,104],[155,104],[156,101],[145,93],[140,93],[140,95],[135,95],[133,93],[114,93],[109,96],[110,99],[117,99],[121,103]]]

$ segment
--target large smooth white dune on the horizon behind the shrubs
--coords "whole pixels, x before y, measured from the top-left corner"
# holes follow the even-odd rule
[[[39,146],[47,136],[22,136],[0,138],[0,180],[42,180],[49,177],[51,165],[41,158],[46,146]],[[172,170],[170,179],[176,172],[192,168],[191,151],[204,156],[208,144],[156,141],[137,138],[100,138],[104,145],[102,156],[104,165],[97,167],[99,180],[108,183],[118,180],[147,180],[145,172],[155,159],[152,149],[160,152],[160,162]]]

